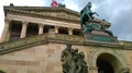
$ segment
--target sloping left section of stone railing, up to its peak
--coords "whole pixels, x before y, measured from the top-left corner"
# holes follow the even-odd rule
[[[10,52],[13,50],[19,50],[21,48],[28,47],[29,45],[32,44],[37,44],[42,40],[46,40],[46,36],[40,35],[40,36],[34,36],[34,37],[28,37],[28,38],[22,38],[18,40],[12,40],[12,41],[6,41],[0,44],[0,54]]]

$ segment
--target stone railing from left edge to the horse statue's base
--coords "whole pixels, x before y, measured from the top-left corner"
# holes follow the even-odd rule
[[[0,44],[0,54],[20,50],[26,47],[38,45],[42,42],[55,41],[55,42],[73,42],[82,44],[84,38],[80,36],[58,35],[58,34],[43,34],[33,37],[26,37],[18,40],[6,41]]]

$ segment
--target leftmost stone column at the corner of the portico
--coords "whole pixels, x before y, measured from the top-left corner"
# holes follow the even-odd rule
[[[2,33],[2,36],[1,36],[1,42],[9,40],[8,37],[10,36],[9,35],[10,22],[11,22],[11,20],[4,19],[4,28],[3,28],[3,33]]]

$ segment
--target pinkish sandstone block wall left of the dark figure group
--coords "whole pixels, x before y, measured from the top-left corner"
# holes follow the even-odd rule
[[[62,73],[64,48],[63,44],[46,44],[0,56],[0,70],[7,73]]]

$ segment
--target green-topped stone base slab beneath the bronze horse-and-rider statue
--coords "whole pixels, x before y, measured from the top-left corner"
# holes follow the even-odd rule
[[[105,35],[94,35],[86,33],[85,34],[85,44],[95,45],[95,46],[109,46],[109,47],[119,47],[117,37],[105,36]]]

